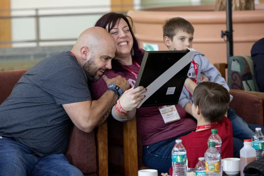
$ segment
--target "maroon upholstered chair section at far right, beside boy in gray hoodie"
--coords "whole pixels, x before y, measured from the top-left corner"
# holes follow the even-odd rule
[[[230,107],[236,114],[242,117],[247,123],[253,123],[263,126],[263,101],[251,91],[230,90],[233,100]]]

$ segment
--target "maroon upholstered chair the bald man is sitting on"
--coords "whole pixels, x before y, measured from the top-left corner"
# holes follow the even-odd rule
[[[9,96],[15,84],[26,71],[27,70],[15,70],[0,72],[0,104]],[[96,131],[98,131],[98,129],[96,129]],[[98,132],[96,136],[101,137],[104,135]],[[104,139],[97,138],[97,142],[102,140]],[[107,163],[107,159],[102,161],[102,163],[97,163],[97,157],[100,157],[100,154],[106,153],[107,155],[107,151],[104,153],[104,151],[101,151],[101,148],[97,151],[100,152],[98,155],[96,153],[95,132],[85,133],[76,126],[72,126],[70,141],[65,155],[70,160],[71,164],[78,167],[85,176],[108,175],[108,172],[105,171],[104,168],[104,163]],[[97,168],[97,165],[99,168]],[[101,170],[101,174],[99,174],[99,170]],[[98,174],[96,174],[96,172]]]

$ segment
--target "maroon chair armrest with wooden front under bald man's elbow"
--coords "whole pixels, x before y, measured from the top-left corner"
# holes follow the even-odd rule
[[[73,125],[65,156],[84,175],[107,176],[107,119],[91,133],[85,133]]]

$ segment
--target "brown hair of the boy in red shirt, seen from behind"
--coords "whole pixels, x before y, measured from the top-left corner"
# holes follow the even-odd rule
[[[229,106],[230,94],[215,82],[201,82],[193,93],[194,105],[199,106],[206,121],[218,122],[224,118]]]

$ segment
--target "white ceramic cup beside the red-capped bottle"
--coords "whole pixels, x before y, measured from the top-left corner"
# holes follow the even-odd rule
[[[225,158],[222,165],[227,175],[237,175],[240,172],[240,158]]]

